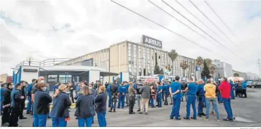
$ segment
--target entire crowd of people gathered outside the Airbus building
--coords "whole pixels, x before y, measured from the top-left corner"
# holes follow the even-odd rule
[[[170,97],[170,105],[173,105],[170,119],[181,120],[180,105],[181,102],[186,101],[185,120],[197,120],[197,117],[209,120],[209,115],[215,115],[217,121],[220,121],[218,103],[224,103],[228,115],[224,121],[233,122],[231,99],[235,99],[234,90],[236,97],[244,95],[247,98],[247,84],[228,81],[226,77],[221,82],[215,82],[214,79],[208,79],[206,82],[200,79],[195,82],[189,78],[187,83],[180,82],[180,78],[176,76],[172,82],[165,81],[164,83],[148,83],[141,82],[141,80],[138,80],[137,83],[115,80],[113,83],[105,85],[102,85],[100,81],[96,81],[95,84],[88,84],[87,81],[57,83],[54,86],[53,96],[49,95],[49,85],[50,83],[45,83],[43,77],[39,77],[37,80],[32,79],[31,84],[25,81],[20,81],[15,85],[13,83],[1,84],[1,125],[18,127],[18,120],[26,119],[23,116],[26,99],[28,100],[26,114],[32,115],[33,127],[46,127],[48,118],[52,121],[52,127],[66,127],[67,122],[70,121],[69,109],[74,100],[76,100],[74,116],[78,120],[79,127],[91,127],[96,115],[99,126],[106,127],[107,106],[108,112],[113,113],[116,112],[116,108],[128,107],[131,115],[135,114],[133,109],[137,101],[137,112],[147,115],[148,107],[161,108],[163,102],[164,105],[169,105],[168,97]],[[75,97],[73,97],[74,90]],[[198,112],[196,101],[198,101]],[[191,106],[192,117],[190,117]],[[206,108],[206,114],[204,114],[203,108]]]

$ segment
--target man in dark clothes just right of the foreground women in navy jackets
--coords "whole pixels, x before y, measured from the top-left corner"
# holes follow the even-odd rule
[[[109,110],[109,112],[116,112],[116,103],[117,103],[117,93],[118,93],[118,85],[117,85],[117,81],[114,80],[114,83],[111,84],[111,109]]]

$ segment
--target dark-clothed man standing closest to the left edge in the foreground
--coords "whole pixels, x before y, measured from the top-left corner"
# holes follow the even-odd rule
[[[13,83],[7,83],[6,88],[3,90],[2,126],[8,126],[9,123],[12,86]]]

